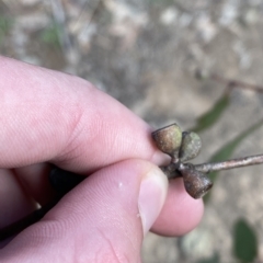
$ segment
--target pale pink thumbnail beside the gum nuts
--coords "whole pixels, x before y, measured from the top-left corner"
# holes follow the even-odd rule
[[[146,235],[156,221],[164,204],[168,179],[158,168],[152,168],[141,180],[138,198],[139,214]]]

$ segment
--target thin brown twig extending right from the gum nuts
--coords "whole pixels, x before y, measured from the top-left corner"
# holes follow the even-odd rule
[[[261,163],[263,163],[263,155],[243,157],[243,158],[227,160],[224,162],[195,164],[194,167],[196,170],[201,172],[208,173],[213,171],[228,170],[228,169],[255,165]]]

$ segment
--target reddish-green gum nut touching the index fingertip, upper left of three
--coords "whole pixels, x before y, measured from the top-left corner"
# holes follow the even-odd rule
[[[182,130],[176,124],[171,124],[151,134],[157,147],[162,152],[178,158],[182,144]]]

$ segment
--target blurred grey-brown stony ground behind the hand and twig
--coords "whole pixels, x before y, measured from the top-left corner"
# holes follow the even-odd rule
[[[220,104],[230,80],[263,85],[261,0],[1,0],[0,52],[80,76],[153,128],[196,127],[214,107],[196,163],[237,136],[232,157],[263,152],[263,94],[236,84]],[[198,228],[149,233],[142,261],[263,262],[262,188],[262,165],[219,173]],[[251,258],[235,250],[242,237]]]

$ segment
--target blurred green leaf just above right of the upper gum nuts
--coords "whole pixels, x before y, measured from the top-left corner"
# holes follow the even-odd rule
[[[229,105],[229,93],[224,95],[214,104],[214,106],[197,118],[196,126],[191,130],[197,133],[213,126]]]

